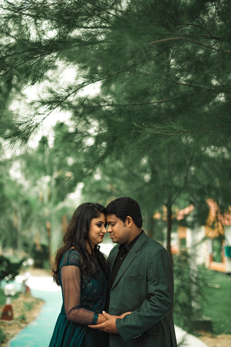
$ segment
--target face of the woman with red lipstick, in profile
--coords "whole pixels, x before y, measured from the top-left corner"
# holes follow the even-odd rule
[[[103,241],[106,232],[106,218],[104,213],[101,213],[98,218],[93,218],[91,220],[88,240],[92,248]]]

